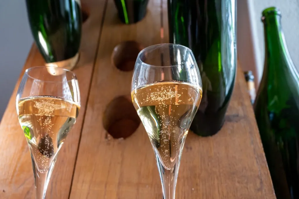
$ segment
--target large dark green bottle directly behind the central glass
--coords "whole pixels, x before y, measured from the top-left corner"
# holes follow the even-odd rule
[[[202,101],[190,130],[211,136],[222,127],[234,88],[235,0],[168,0],[170,43],[193,51],[202,78]]]

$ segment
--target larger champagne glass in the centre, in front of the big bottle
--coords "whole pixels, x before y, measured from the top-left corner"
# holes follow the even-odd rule
[[[177,44],[142,50],[131,96],[156,156],[164,199],[174,199],[184,142],[202,98],[192,51]]]

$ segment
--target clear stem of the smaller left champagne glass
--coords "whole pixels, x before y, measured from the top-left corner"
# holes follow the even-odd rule
[[[35,161],[31,155],[32,160],[32,167],[33,167],[33,174],[34,174],[34,181],[35,181],[35,198],[36,199],[45,199],[46,191],[48,188],[48,184],[50,181],[50,177],[52,174],[52,171],[54,169],[54,165],[56,162],[56,157],[53,159],[50,168],[47,171],[39,171],[38,167],[35,164]]]

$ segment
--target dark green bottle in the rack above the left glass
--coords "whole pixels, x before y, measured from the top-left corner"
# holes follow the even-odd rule
[[[78,54],[82,13],[80,0],[26,0],[33,38],[47,63]]]

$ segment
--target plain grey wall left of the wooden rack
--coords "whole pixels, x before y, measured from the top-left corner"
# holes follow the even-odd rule
[[[25,0],[0,0],[0,119],[32,42]]]

